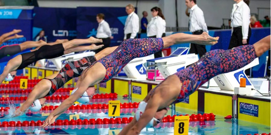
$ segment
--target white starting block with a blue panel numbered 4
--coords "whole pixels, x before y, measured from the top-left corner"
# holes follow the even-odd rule
[[[126,73],[128,78],[145,79],[146,67],[144,64],[147,60],[153,58],[154,54],[142,58],[135,58],[123,67],[123,71]]]

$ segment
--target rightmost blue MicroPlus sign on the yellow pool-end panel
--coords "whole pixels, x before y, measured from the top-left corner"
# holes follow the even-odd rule
[[[259,106],[255,104],[239,103],[239,113],[258,117]]]

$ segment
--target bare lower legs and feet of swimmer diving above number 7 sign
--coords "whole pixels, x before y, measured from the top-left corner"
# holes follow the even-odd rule
[[[209,36],[206,32],[201,35],[191,35],[185,33],[176,33],[162,38],[164,42],[164,48],[172,46],[173,44],[182,43],[195,43],[203,45],[214,45],[217,43],[219,37],[213,38]]]

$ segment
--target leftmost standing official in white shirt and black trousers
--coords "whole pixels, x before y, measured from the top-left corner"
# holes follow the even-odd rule
[[[102,48],[95,50],[95,52],[98,53],[104,48],[110,47],[110,42],[111,42],[111,39],[113,39],[113,37],[111,35],[111,29],[109,27],[109,24],[104,20],[104,14],[103,13],[97,14],[96,20],[99,23],[99,26],[97,28],[96,38],[103,40],[103,43],[96,43],[96,45],[101,45],[101,44],[104,45]]]

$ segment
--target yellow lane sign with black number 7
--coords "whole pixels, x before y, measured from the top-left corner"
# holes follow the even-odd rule
[[[108,116],[120,116],[120,101],[108,101]]]

